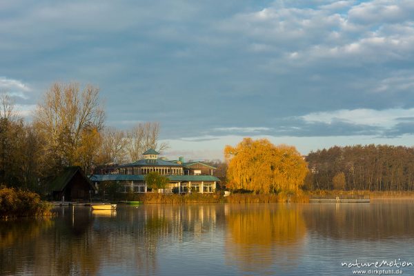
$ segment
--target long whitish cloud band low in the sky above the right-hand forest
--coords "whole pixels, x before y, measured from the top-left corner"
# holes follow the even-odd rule
[[[413,117],[414,108],[391,108],[386,110],[359,108],[354,110],[343,109],[331,112],[313,112],[300,118],[308,123],[333,124],[341,121],[349,124],[392,128],[398,124],[399,119]]]

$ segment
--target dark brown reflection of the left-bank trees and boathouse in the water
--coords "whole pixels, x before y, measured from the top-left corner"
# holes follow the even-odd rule
[[[88,209],[66,208],[59,218],[0,224],[1,272],[34,275],[95,275],[97,246]]]

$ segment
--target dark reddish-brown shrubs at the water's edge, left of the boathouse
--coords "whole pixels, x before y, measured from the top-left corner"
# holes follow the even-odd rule
[[[14,188],[0,188],[0,217],[40,217],[51,215],[51,205],[39,195]]]

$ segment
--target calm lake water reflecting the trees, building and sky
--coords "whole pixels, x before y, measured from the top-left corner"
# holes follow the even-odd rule
[[[1,275],[352,275],[342,262],[414,263],[413,200],[56,211],[0,221]]]

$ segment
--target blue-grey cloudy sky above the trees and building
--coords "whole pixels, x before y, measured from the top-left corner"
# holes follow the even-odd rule
[[[0,1],[0,90],[20,114],[55,81],[100,88],[106,125],[161,124],[164,155],[243,137],[414,142],[414,1]]]

